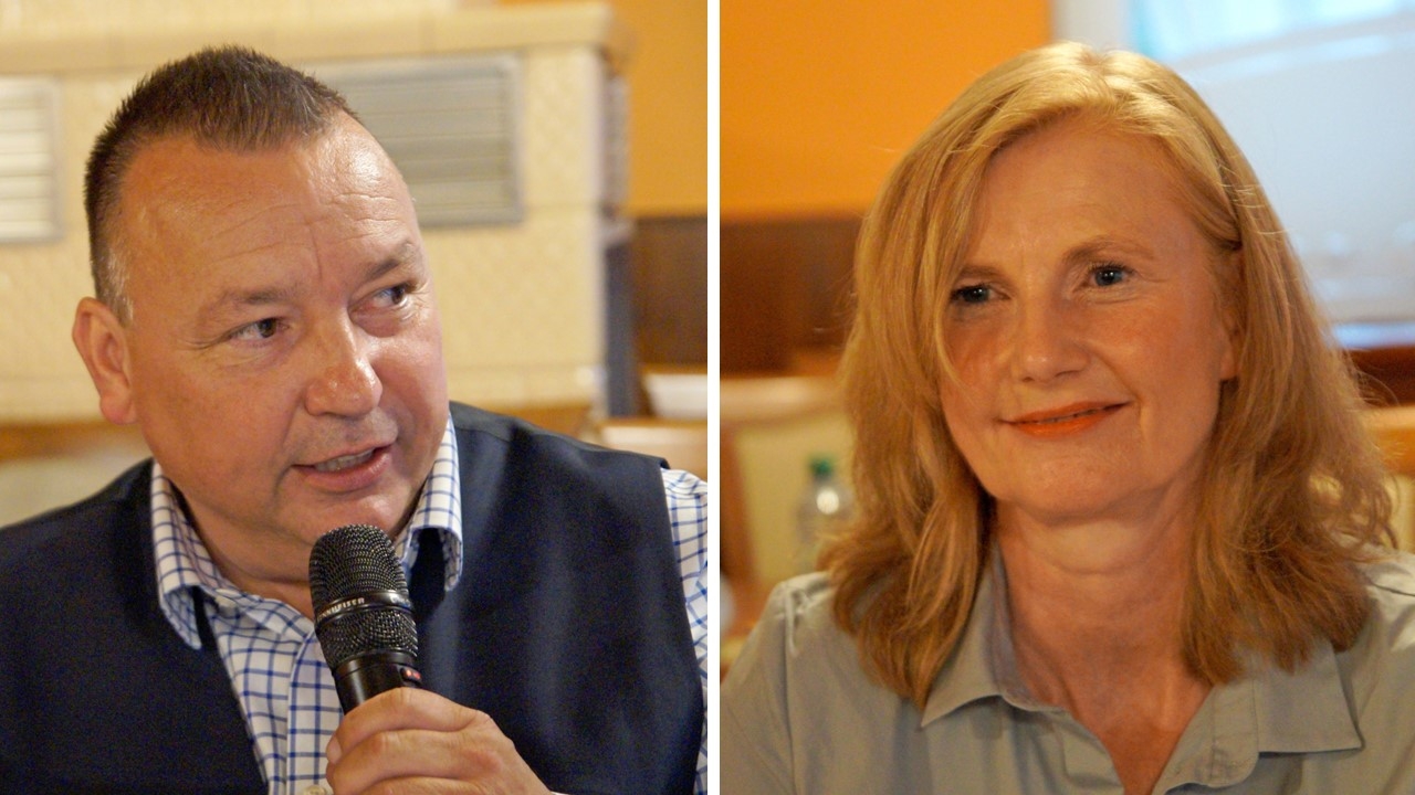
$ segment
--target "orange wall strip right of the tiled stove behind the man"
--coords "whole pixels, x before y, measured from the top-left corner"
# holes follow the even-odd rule
[[[501,0],[504,6],[545,0]],[[634,216],[708,212],[708,0],[610,0],[630,30]]]

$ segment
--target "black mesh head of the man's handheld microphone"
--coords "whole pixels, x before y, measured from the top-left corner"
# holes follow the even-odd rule
[[[383,530],[345,525],[314,542],[310,596],[330,668],[379,652],[417,656],[408,580]]]

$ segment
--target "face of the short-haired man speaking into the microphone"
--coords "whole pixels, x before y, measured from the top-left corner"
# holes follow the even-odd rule
[[[272,151],[149,144],[116,250],[130,413],[236,584],[303,583],[324,532],[406,518],[447,420],[408,188],[342,117]]]

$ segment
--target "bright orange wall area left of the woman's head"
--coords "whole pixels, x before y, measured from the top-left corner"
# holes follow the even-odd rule
[[[856,214],[1047,0],[722,0],[722,216]]]

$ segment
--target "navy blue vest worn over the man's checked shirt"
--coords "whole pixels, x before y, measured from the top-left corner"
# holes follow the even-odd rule
[[[453,406],[463,576],[409,588],[427,687],[558,792],[692,792],[703,702],[658,461]],[[0,529],[0,791],[265,792],[214,648],[156,594],[150,464]]]

